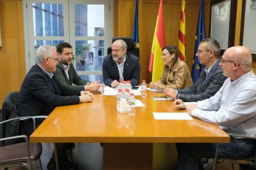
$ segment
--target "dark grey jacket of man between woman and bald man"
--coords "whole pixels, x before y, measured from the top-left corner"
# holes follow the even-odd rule
[[[195,83],[194,86],[187,89],[177,89],[179,99],[184,102],[197,102],[209,99],[220,90],[220,87],[227,78],[226,76],[223,76],[223,70],[220,67],[220,60],[217,60],[213,67],[211,67],[210,73],[208,73],[206,79],[205,76],[205,70],[202,70],[197,83]]]

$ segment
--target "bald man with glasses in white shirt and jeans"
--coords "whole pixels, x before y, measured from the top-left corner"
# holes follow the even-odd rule
[[[248,156],[255,147],[250,137],[256,136],[256,76],[252,71],[252,55],[246,47],[231,47],[224,52],[220,66],[223,75],[228,76],[220,91],[200,102],[175,100],[174,107],[186,108],[190,115],[218,124],[231,136],[230,143],[219,144],[218,156]],[[200,158],[214,157],[216,144],[176,144],[176,148],[178,169],[198,169]]]

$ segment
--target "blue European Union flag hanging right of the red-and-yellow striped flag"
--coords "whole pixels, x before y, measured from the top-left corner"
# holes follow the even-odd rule
[[[194,84],[197,82],[197,79],[203,68],[205,68],[205,65],[200,64],[197,56],[195,55],[197,54],[198,46],[203,39],[205,39],[205,17],[203,13],[202,0],[197,21],[197,35],[195,36],[194,61],[192,65],[192,79]]]

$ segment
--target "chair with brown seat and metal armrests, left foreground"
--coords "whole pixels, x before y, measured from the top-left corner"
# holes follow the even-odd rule
[[[46,118],[47,116],[28,116],[21,118],[8,119],[2,121],[0,124],[10,123],[11,121],[22,121],[24,119],[33,120],[33,129],[35,130],[37,118]],[[4,140],[14,140],[14,139],[24,139],[25,142],[11,144],[7,146],[0,147],[0,169],[1,168],[10,168],[13,166],[25,166],[28,169],[32,169],[31,161],[38,161],[41,168],[40,156],[42,153],[41,143],[30,143],[28,137],[25,135],[13,136],[13,137],[4,137],[0,141]]]

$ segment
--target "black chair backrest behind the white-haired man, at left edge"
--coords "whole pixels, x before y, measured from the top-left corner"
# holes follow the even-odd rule
[[[7,119],[17,118],[17,103],[20,92],[10,92],[6,95],[4,103],[2,103],[2,114],[0,122],[6,121]],[[19,132],[19,121],[14,121],[12,123],[1,124],[0,125],[0,138],[16,136]],[[0,146],[14,144],[14,140],[9,140],[7,142],[0,142]]]

